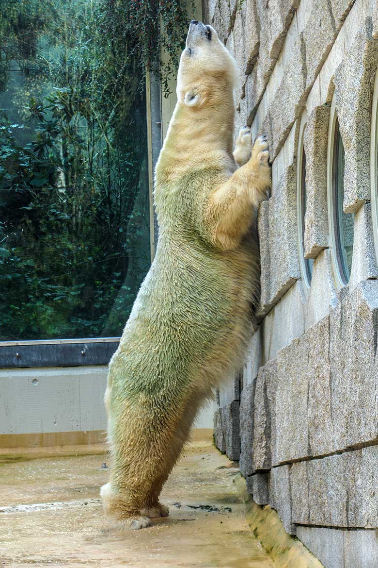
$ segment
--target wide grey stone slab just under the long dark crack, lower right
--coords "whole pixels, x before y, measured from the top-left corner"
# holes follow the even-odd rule
[[[378,446],[294,463],[292,521],[323,527],[378,527]]]

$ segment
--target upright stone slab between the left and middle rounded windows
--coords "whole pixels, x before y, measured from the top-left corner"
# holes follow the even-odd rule
[[[306,156],[306,212],[304,255],[316,258],[328,247],[327,147],[329,106],[317,106],[308,117],[304,131]]]

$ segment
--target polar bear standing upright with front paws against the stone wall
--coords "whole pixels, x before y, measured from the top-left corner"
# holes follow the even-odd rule
[[[168,515],[159,494],[194,417],[243,361],[259,288],[250,228],[270,168],[265,139],[252,148],[248,127],[232,154],[236,77],[215,30],[192,20],[156,165],[158,248],[105,392],[112,467],[101,497],[122,527]]]

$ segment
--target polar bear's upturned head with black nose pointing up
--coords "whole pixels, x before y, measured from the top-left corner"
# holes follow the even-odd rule
[[[232,97],[238,79],[235,60],[211,26],[192,20],[177,74],[177,100],[193,110],[218,106]]]

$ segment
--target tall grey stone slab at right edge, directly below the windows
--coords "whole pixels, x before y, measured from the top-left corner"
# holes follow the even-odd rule
[[[377,320],[377,281],[360,283],[331,311],[334,446],[330,451],[377,438]]]

